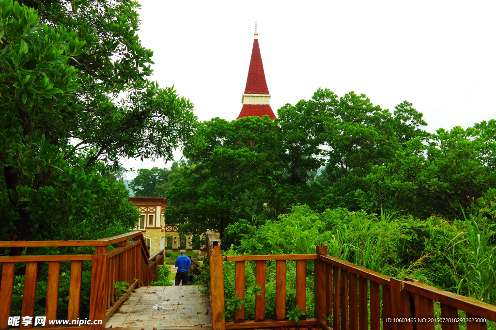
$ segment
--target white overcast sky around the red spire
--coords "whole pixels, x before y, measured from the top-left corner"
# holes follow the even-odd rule
[[[240,113],[255,18],[276,115],[322,87],[367,94],[391,111],[412,102],[429,132],[496,118],[496,1],[139,2],[152,79],[174,84],[200,121]]]

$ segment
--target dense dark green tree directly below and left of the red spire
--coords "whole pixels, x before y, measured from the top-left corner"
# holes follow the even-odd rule
[[[271,214],[266,189],[277,166],[277,123],[268,117],[233,122],[220,118],[200,123],[184,155],[193,164],[182,168],[166,193],[168,224],[186,234],[224,228],[252,214]]]

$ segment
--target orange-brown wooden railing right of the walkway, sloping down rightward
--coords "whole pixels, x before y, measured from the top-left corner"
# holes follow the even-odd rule
[[[324,330],[458,330],[458,310],[466,312],[467,330],[486,330],[486,320],[496,322],[496,306],[436,289],[415,280],[401,281],[327,255],[316,247],[314,255],[225,256],[220,240],[208,246],[210,297],[214,330],[268,327],[318,326]],[[276,261],[275,319],[265,320],[265,264]],[[314,318],[300,324],[286,319],[286,261],[296,261],[296,304],[306,312],[306,263],[314,260]],[[256,262],[255,282],[262,292],[255,297],[255,320],[245,320],[245,306],[235,312],[234,322],[222,320],[224,312],[223,262],[236,263],[236,296],[245,299],[245,263]],[[382,301],[382,303],[381,303]],[[440,302],[440,315],[434,314]],[[454,319],[454,320],[453,320]],[[482,319],[482,320],[478,320]],[[465,322],[465,321],[463,321]],[[382,325],[381,325],[382,324]]]

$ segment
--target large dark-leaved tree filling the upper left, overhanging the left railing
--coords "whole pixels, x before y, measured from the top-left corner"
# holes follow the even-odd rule
[[[194,122],[189,101],[145,79],[152,53],[136,35],[137,3],[36,6],[0,0],[1,239],[7,240],[63,239],[61,221],[97,216],[108,205],[110,183],[95,172],[100,161],[171,160]],[[127,96],[115,101],[124,90]],[[136,221],[137,214],[129,216],[135,218],[127,222]]]

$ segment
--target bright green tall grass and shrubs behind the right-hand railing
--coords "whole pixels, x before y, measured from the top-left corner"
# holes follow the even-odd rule
[[[424,283],[496,303],[496,249],[491,246],[496,228],[481,229],[471,220],[446,221],[431,217],[418,220],[395,214],[370,215],[343,208],[312,211],[307,205],[295,206],[277,220],[260,226],[247,225],[241,244],[224,255],[271,255],[315,253],[325,244],[328,254],[371,270],[403,279],[411,277]],[[483,220],[483,219],[481,219]],[[484,221],[484,220],[483,220]],[[486,225],[481,223],[481,226]],[[234,226],[234,225],[232,225]],[[494,245],[494,244],[493,244]],[[286,310],[296,307],[294,261],[286,262]],[[235,263],[224,263],[226,317],[239,302],[236,298]],[[275,262],[266,265],[266,310],[275,309]],[[307,264],[307,315],[313,315],[313,263]],[[203,279],[203,278],[202,278]],[[203,279],[204,280],[204,279]],[[245,313],[254,318],[255,267],[246,263]]]

